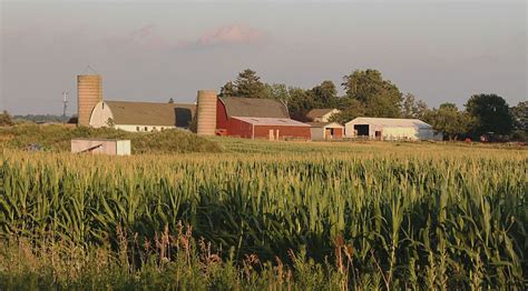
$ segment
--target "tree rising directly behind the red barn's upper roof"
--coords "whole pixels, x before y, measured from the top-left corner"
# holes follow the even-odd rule
[[[234,82],[225,83],[221,89],[222,97],[270,98],[261,77],[251,69],[239,72]]]

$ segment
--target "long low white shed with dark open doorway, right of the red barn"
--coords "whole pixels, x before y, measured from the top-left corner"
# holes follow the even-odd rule
[[[441,140],[432,127],[419,119],[356,118],[346,122],[348,138],[380,140]]]

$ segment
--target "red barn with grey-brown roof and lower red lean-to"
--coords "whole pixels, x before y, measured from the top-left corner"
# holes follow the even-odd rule
[[[310,128],[291,119],[286,107],[276,100],[225,97],[216,103],[216,131],[221,136],[310,140]]]

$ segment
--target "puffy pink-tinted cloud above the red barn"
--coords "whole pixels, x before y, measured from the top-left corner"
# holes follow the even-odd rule
[[[268,39],[264,31],[241,24],[223,26],[209,31],[195,41],[180,42],[178,47],[214,47],[226,44],[255,44],[263,43]]]

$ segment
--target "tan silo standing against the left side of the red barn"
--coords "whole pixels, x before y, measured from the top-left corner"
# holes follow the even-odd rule
[[[197,133],[198,136],[215,136],[216,130],[216,91],[198,91]]]

